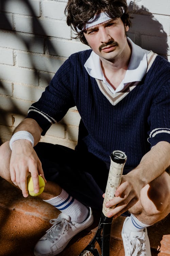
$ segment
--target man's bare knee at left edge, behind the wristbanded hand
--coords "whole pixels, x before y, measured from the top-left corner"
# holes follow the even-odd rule
[[[9,182],[11,182],[10,158],[11,149],[7,141],[0,146],[0,176]]]

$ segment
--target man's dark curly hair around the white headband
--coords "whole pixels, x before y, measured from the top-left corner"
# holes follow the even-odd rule
[[[83,31],[78,32],[77,27],[81,30],[89,19],[101,12],[107,13],[111,18],[121,18],[124,25],[131,27],[126,0],[68,0],[65,15],[67,25],[77,33],[75,39],[88,45]]]

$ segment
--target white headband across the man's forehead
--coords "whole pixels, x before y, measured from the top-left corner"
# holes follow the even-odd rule
[[[121,7],[121,8],[122,8],[122,13],[124,13],[124,8],[123,7]],[[88,22],[84,25],[84,27],[81,30],[78,27],[76,27],[76,28],[77,28],[78,32],[81,32],[81,31],[83,31],[87,28],[90,28],[90,27],[93,27],[95,25],[106,22],[109,19],[112,19],[112,18],[109,17],[107,13],[101,12],[101,13],[95,15],[93,18],[89,19]]]

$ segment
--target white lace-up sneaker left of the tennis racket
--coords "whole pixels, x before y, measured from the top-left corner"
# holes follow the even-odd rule
[[[57,219],[51,219],[53,226],[36,243],[34,247],[35,256],[54,256],[61,253],[71,238],[86,229],[93,223],[93,215],[89,208],[89,217],[82,223],[70,221],[70,216],[61,213]]]

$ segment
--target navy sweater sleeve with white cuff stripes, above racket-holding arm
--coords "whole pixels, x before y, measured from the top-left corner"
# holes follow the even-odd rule
[[[160,141],[170,143],[170,79],[166,79],[164,84],[163,81],[162,83],[159,81],[160,90],[156,92],[148,118],[150,126],[148,142],[151,147]]]

